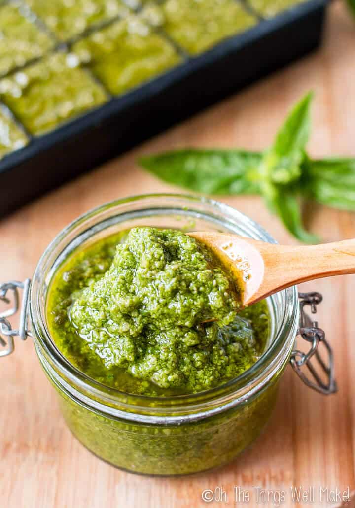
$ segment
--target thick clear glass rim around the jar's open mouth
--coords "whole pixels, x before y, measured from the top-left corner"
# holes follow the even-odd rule
[[[218,387],[191,395],[169,397],[128,394],[117,388],[107,387],[77,369],[62,355],[51,339],[43,306],[41,307],[40,305],[39,297],[43,284],[45,284],[46,290],[48,290],[53,273],[63,262],[63,259],[65,259],[66,247],[63,248],[63,245],[61,246],[63,242],[65,243],[65,241],[70,240],[72,243],[75,240],[77,245],[80,245],[82,235],[92,228],[95,229],[99,225],[102,226],[105,223],[105,219],[111,216],[110,212],[117,207],[123,206],[127,208],[127,205],[137,205],[137,203],[141,203],[144,206],[148,203],[152,206],[152,202],[155,201],[159,203],[162,210],[165,209],[162,206],[164,201],[168,202],[170,207],[172,205],[177,206],[178,202],[182,206],[181,203],[184,201],[186,201],[186,204],[193,203],[195,206],[206,207],[211,213],[213,211],[222,213],[225,217],[225,222],[234,221],[236,223],[236,221],[239,221],[242,223],[246,236],[256,236],[258,239],[268,241],[269,243],[277,243],[267,231],[247,215],[229,205],[197,195],[143,194],[113,200],[100,205],[80,215],[58,233],[45,249],[38,262],[29,297],[29,312],[35,332],[35,345],[40,360],[49,375],[55,377],[57,382],[60,383],[61,388],[70,393],[72,397],[80,400],[81,403],[88,404],[91,407],[93,405],[97,406],[101,411],[103,408],[106,408],[110,414],[115,413],[116,416],[123,418],[124,413],[130,411],[135,413],[140,412],[142,415],[154,414],[155,418],[158,419],[159,414],[166,415],[166,413],[172,412],[174,414],[173,419],[178,414],[185,416],[194,414],[196,417],[196,410],[210,410],[211,404],[216,408],[220,408],[221,406],[227,407],[232,402],[239,403],[248,399],[254,392],[256,393],[265,386],[265,383],[279,371],[280,366],[288,360],[299,323],[299,304],[295,287],[279,292],[283,296],[285,307],[282,323],[271,345],[255,364],[239,376],[228,380]],[[138,208],[138,210],[144,209],[147,208]],[[183,209],[179,208],[181,211]],[[117,213],[112,216],[118,217],[120,214]],[[205,211],[205,216],[209,217],[208,211]],[[91,228],[85,228],[87,222],[96,218],[100,218],[98,223],[95,223]],[[77,228],[81,228],[80,234],[78,232],[75,233]],[[101,230],[105,230],[105,228],[102,227]],[[61,257],[63,258],[62,261],[58,262]],[[51,273],[49,273],[48,268],[50,268]],[[166,418],[163,418],[164,422],[166,422]]]

